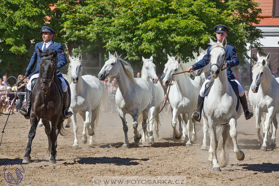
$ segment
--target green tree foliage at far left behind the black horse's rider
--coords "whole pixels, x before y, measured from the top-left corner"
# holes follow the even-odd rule
[[[57,1],[0,1],[0,71],[24,73],[31,58],[28,49],[42,41],[40,30],[50,6]]]

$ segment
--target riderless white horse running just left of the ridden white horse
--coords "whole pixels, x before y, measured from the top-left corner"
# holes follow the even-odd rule
[[[192,127],[192,119],[191,116],[197,108],[198,101],[198,92],[200,90],[200,86],[194,80],[189,77],[189,74],[177,74],[172,77],[172,74],[177,72],[182,72],[187,70],[187,67],[184,63],[181,62],[181,58],[177,58],[177,56],[169,57],[168,62],[165,64],[164,72],[162,74],[161,80],[163,81],[163,85],[167,87],[169,83],[175,81],[175,84],[171,86],[169,91],[169,103],[171,108],[173,109],[172,115],[173,119],[171,121],[171,125],[174,129],[173,136],[176,139],[181,138],[181,134],[176,130],[176,118],[180,114],[183,122],[184,129],[183,136],[185,135],[186,146],[192,146],[190,141],[190,130]],[[187,124],[186,124],[187,123]],[[193,137],[192,139],[196,139],[196,121],[194,121],[193,127]]]

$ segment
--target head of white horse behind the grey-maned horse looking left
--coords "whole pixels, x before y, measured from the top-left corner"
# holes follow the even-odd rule
[[[142,57],[142,61],[142,76],[149,77],[152,83],[156,84],[158,82],[158,76],[156,74],[156,65],[153,63],[153,57],[151,56],[149,59]]]

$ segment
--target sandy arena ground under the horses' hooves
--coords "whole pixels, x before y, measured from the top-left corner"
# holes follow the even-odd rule
[[[0,116],[1,131],[7,116]],[[22,164],[25,171],[23,180],[18,185],[105,185],[94,182],[94,178],[101,178],[100,176],[141,176],[141,179],[163,176],[162,178],[172,181],[169,184],[157,182],[155,185],[279,184],[278,142],[274,149],[260,150],[255,131],[255,117],[246,121],[242,115],[237,120],[237,142],[245,153],[245,159],[238,161],[233,149],[227,149],[229,165],[221,167],[221,172],[212,171],[208,164],[208,151],[200,150],[202,130],[198,132],[198,142],[192,147],[186,147],[185,142],[172,138],[171,114],[163,114],[162,118],[160,138],[155,139],[154,143],[135,144],[131,140],[128,149],[112,149],[109,144],[115,147],[124,143],[122,123],[118,114],[102,112],[94,135],[97,143],[94,147],[89,146],[89,137],[87,144],[82,144],[83,122],[78,115],[79,148],[72,148],[74,133],[71,124],[67,129],[67,136],[58,136],[57,164],[48,162],[48,142],[44,126],[37,128],[32,143],[31,163]],[[128,125],[131,121],[131,117],[127,115]],[[66,122],[64,126],[65,124]],[[22,161],[29,130],[29,120],[24,119],[19,113],[10,115],[0,147],[0,185],[11,185],[6,182],[3,169],[10,161]],[[129,130],[128,138],[131,137],[133,131]],[[276,138],[278,137],[277,133]],[[219,158],[219,151],[217,155]],[[15,173],[13,176],[16,177]],[[183,181],[175,182],[176,178]],[[123,184],[138,185],[130,182]]]

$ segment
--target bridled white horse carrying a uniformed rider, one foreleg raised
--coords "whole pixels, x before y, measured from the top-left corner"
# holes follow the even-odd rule
[[[225,125],[222,131],[222,151],[221,160],[226,164],[225,145],[228,137],[228,130],[232,137],[234,145],[234,153],[238,160],[244,160],[244,153],[237,145],[237,118],[242,114],[243,109],[237,106],[237,96],[232,89],[227,77],[226,64],[226,51],[227,45],[226,38],[222,43],[213,42],[210,38],[210,72],[212,74],[212,81],[214,81],[208,96],[205,96],[203,107],[203,119],[210,129],[210,149],[209,149],[209,162],[213,166],[213,171],[221,171],[217,160],[217,137],[216,126]]]

